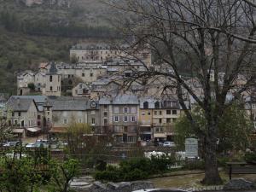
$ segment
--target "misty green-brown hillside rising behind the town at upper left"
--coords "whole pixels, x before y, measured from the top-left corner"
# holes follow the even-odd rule
[[[109,15],[100,0],[73,0],[70,9],[0,0],[0,92],[15,94],[15,74],[38,62],[68,61],[73,44],[116,36]]]

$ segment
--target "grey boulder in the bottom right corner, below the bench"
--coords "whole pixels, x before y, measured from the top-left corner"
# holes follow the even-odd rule
[[[224,190],[249,190],[255,189],[253,182],[249,182],[243,178],[236,178],[230,180],[229,183],[224,185]]]

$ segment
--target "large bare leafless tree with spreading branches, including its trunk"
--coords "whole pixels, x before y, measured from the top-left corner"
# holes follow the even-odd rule
[[[165,89],[177,89],[185,115],[195,132],[204,138],[206,170],[202,183],[222,183],[216,152],[218,122],[225,109],[240,99],[255,79],[252,73],[256,43],[253,4],[249,0],[119,2],[108,3],[119,13],[129,15],[119,29],[125,36],[136,39],[131,46],[148,44],[156,58],[152,67],[145,65],[146,72],[134,73],[131,81],[158,76],[175,80],[176,84],[166,84]],[[198,79],[202,95],[182,78],[184,72]],[[224,74],[223,79],[219,78],[220,73]],[[237,84],[241,75],[245,81]],[[186,95],[204,110],[206,131],[196,125],[184,102]]]

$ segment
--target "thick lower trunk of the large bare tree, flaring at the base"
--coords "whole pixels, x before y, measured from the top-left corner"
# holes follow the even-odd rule
[[[205,177],[201,183],[206,185],[221,184],[222,179],[219,176],[217,162],[217,143],[212,137],[206,138],[205,164]]]

